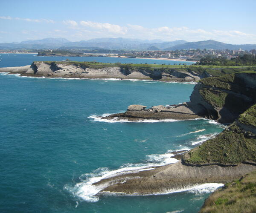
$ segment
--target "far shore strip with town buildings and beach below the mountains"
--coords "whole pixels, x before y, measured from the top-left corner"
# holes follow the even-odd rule
[[[224,58],[230,60],[239,55],[256,55],[256,49],[249,51],[242,50],[218,50],[218,49],[181,49],[174,51],[144,50],[144,51],[123,51],[123,50],[0,50],[0,53],[36,53],[42,56],[98,56],[98,57],[125,57],[125,58],[152,58],[169,60],[199,61],[201,58],[210,56],[212,58]]]

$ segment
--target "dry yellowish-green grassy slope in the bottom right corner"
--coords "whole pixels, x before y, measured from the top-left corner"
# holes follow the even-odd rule
[[[200,213],[241,212],[256,212],[256,172],[249,173],[240,180],[216,190],[205,200],[200,211]]]

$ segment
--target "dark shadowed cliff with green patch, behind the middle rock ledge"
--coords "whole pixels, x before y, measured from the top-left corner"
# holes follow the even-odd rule
[[[256,103],[256,72],[201,79],[190,100],[194,111],[200,109],[196,114],[231,123]]]

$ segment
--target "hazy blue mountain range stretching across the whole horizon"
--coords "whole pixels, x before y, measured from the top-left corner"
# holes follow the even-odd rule
[[[71,42],[65,38],[45,38],[41,40],[27,40],[20,43],[0,43],[2,50],[19,49],[69,49],[69,50],[176,50],[176,49],[234,49],[243,50],[256,49],[254,44],[234,45],[205,40],[187,42],[186,40],[163,41],[163,40],[141,40],[129,38],[94,38]]]

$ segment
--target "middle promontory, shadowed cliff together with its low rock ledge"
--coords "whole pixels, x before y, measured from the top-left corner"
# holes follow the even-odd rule
[[[256,72],[244,72],[201,79],[194,87],[190,102],[169,107],[127,110],[103,119],[193,119],[208,118],[231,123],[256,103]]]

